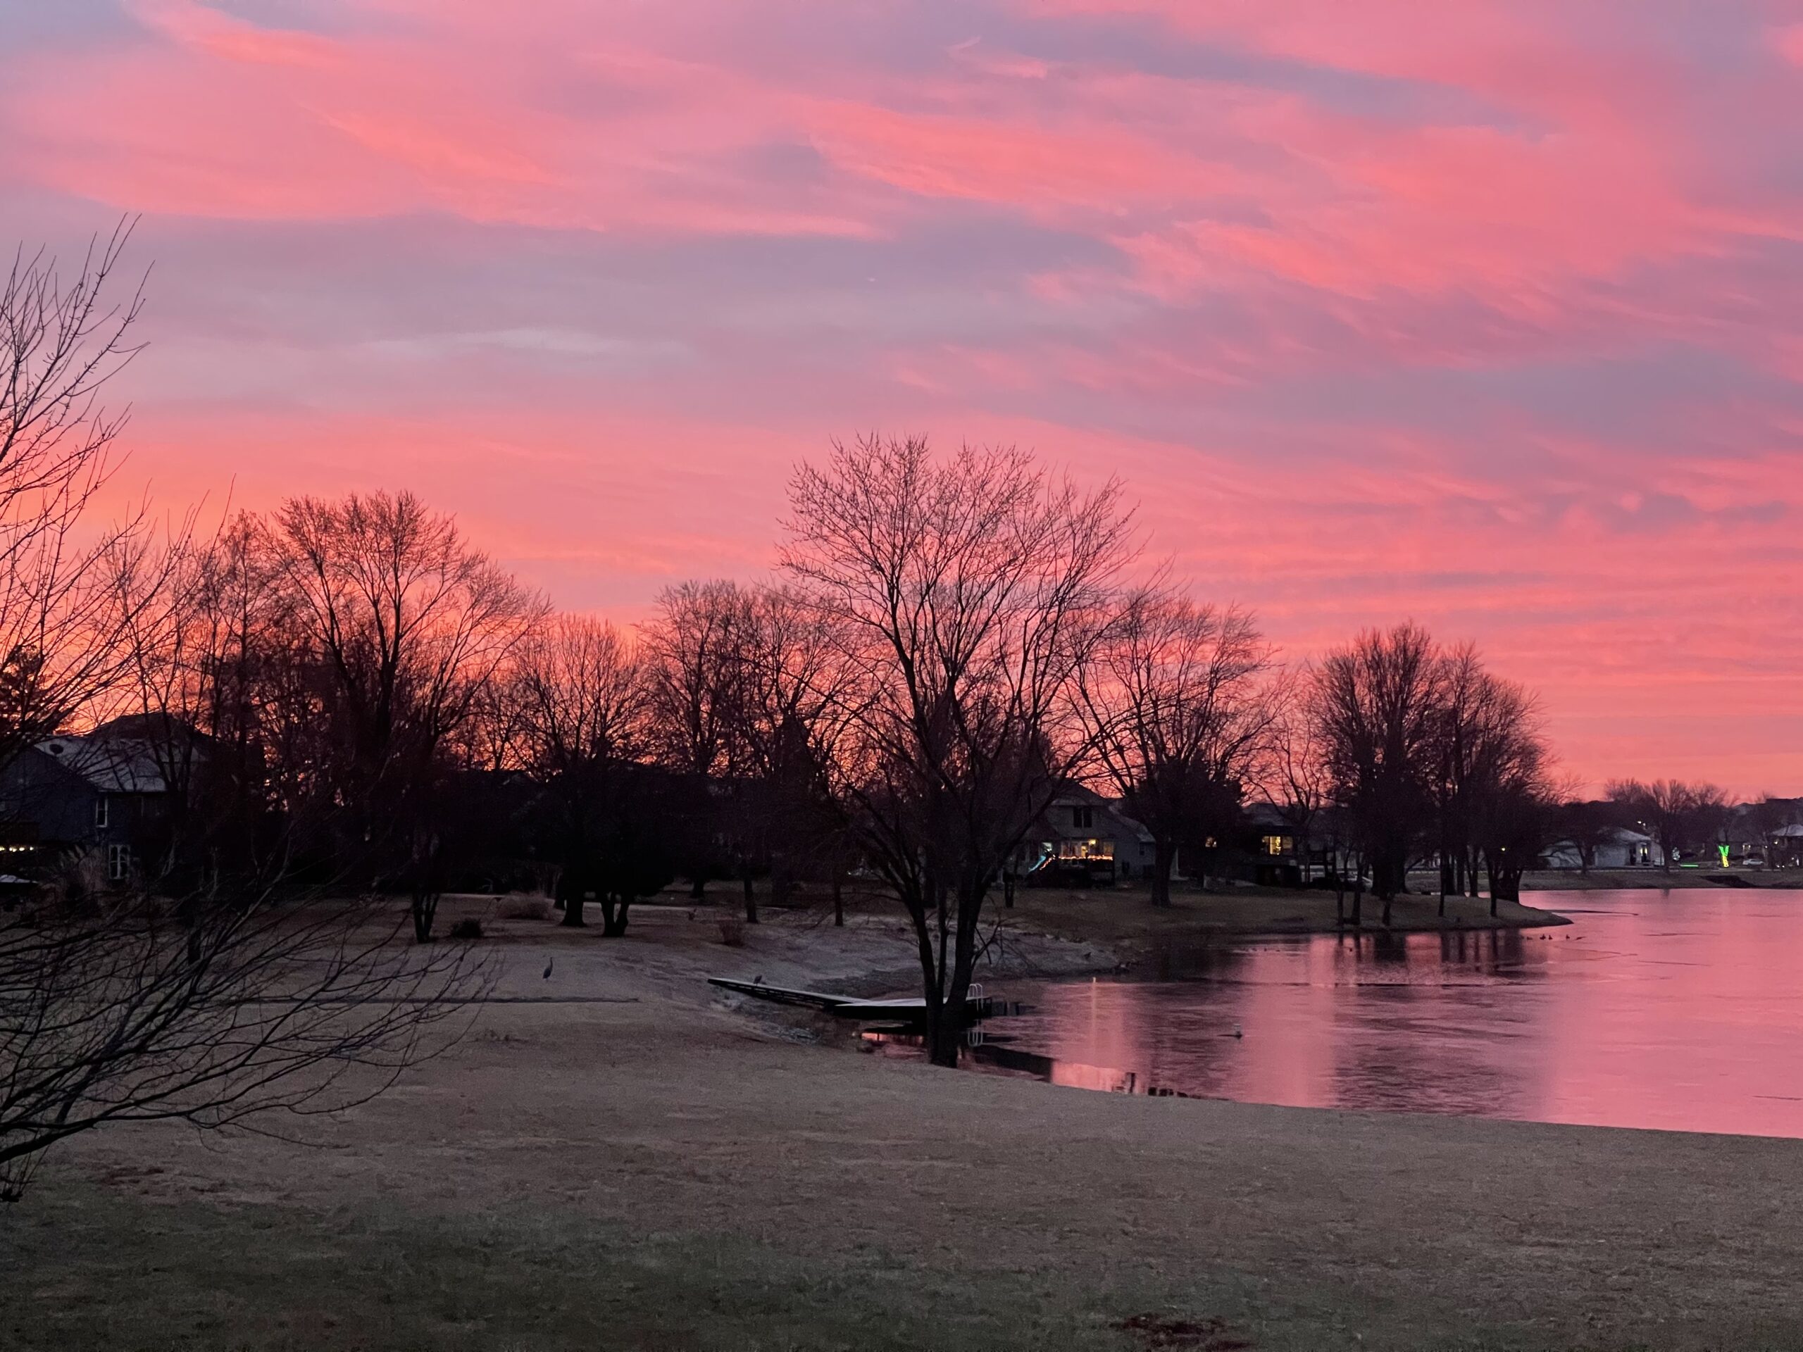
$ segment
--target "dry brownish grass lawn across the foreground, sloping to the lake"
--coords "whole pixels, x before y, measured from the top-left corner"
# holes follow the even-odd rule
[[[290,1123],[310,1148],[63,1150],[0,1224],[0,1345],[1803,1348],[1799,1143],[936,1071],[701,981],[905,972],[892,921],[779,916],[739,950],[683,909],[635,930],[503,921],[508,1002],[375,1103]]]

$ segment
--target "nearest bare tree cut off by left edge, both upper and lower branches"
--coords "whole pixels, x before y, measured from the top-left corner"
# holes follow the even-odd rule
[[[0,290],[5,766],[72,717],[117,712],[112,701],[224,728],[238,699],[215,559],[180,530],[151,548],[141,516],[83,523],[123,424],[99,389],[133,352],[137,297],[103,299],[126,234],[90,251],[70,283],[54,260],[20,256]],[[269,891],[171,903],[97,885],[88,860],[67,860],[0,916],[0,1197],[16,1199],[43,1152],[79,1132],[267,1128],[272,1110],[361,1101],[442,1046],[433,1028],[483,991],[480,961],[395,952],[393,927],[371,921],[357,901],[290,907]]]

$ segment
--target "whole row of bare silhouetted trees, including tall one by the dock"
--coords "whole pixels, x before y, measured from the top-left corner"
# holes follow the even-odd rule
[[[142,885],[539,883],[604,934],[678,878],[838,896],[874,874],[950,1037],[984,907],[1087,782],[1154,840],[1150,900],[1251,800],[1332,818],[1354,923],[1408,867],[1509,898],[1554,808],[1533,698],[1405,624],[1284,667],[1255,618],[1154,570],[1118,481],[1011,447],[838,443],[797,469],[772,580],[667,588],[636,629],[554,613],[411,494],[296,498],[115,546],[128,638],[96,708],[175,788]],[[936,1042],[936,1055],[948,1055]]]

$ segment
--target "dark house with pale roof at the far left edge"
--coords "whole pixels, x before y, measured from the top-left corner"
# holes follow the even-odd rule
[[[110,880],[130,878],[169,809],[169,786],[148,732],[142,719],[115,719],[79,737],[41,741],[0,770],[5,871],[79,851],[101,856]]]

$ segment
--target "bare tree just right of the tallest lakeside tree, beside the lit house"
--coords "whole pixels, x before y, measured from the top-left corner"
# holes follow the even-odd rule
[[[1154,842],[1152,905],[1170,905],[1185,838],[1224,835],[1275,708],[1266,645],[1244,611],[1161,589],[1127,598],[1076,672],[1094,761]]]

